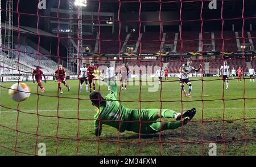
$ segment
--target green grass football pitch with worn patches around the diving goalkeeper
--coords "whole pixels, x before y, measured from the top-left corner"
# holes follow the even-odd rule
[[[200,78],[192,78],[196,79]],[[127,108],[160,108],[162,105],[164,109],[181,112],[181,108],[195,107],[197,114],[193,122],[182,127],[182,133],[180,128],[141,136],[129,131],[119,134],[116,129],[103,126],[100,138],[94,136],[95,111],[88,100],[89,93],[81,92],[78,96],[77,80],[68,80],[72,89],[68,92],[64,88],[59,98],[55,82],[43,83],[46,88],[43,95],[31,94],[19,106],[4,88],[14,83],[2,83],[0,155],[33,155],[38,152],[38,143],[46,144],[47,155],[208,155],[208,145],[212,142],[217,144],[217,155],[256,155],[256,84],[249,80],[241,83],[230,80],[229,91],[223,92],[221,80],[215,79],[218,78],[192,82],[191,99],[180,95],[177,78],[171,78],[175,82],[164,82],[162,93],[160,88],[157,92],[148,92],[147,85],[130,85],[119,96]],[[36,92],[36,84],[27,84]],[[185,88],[188,89],[187,85]],[[100,90],[107,95],[106,86]],[[20,112],[15,111],[17,108]],[[221,121],[223,118],[231,121]]]

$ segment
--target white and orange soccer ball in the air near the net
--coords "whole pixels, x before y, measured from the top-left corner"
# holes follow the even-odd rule
[[[30,88],[25,83],[15,83],[9,89],[9,96],[14,101],[24,101],[30,97]]]

